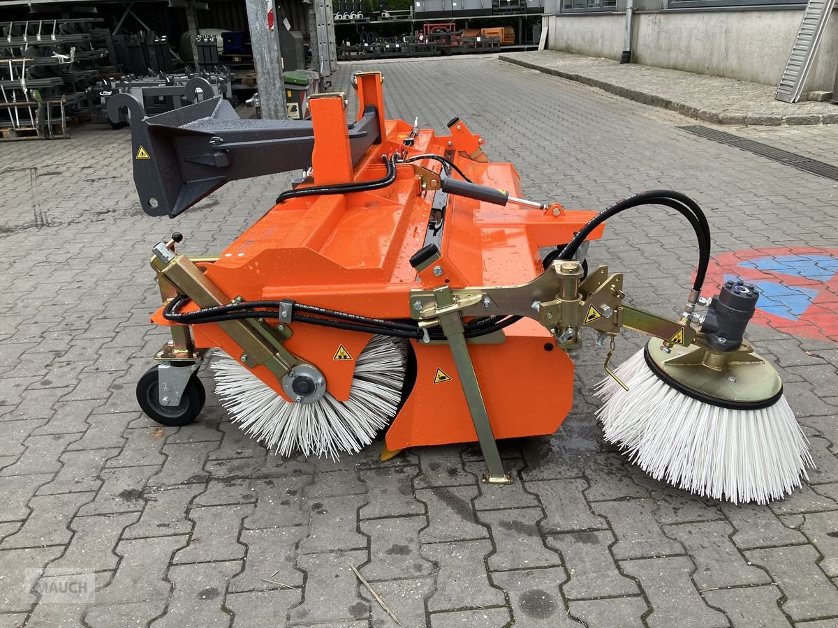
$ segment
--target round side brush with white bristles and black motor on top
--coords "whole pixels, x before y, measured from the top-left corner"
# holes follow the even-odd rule
[[[699,342],[653,338],[615,369],[625,388],[603,380],[605,440],[655,479],[734,503],[780,499],[808,479],[808,441],[779,373],[741,337],[757,298],[753,286],[727,282]]]

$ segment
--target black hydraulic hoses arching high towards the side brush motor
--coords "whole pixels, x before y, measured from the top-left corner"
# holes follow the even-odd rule
[[[693,282],[693,290],[701,292],[707,267],[710,265],[710,226],[707,224],[704,212],[695,201],[685,196],[685,194],[671,190],[650,190],[649,192],[634,194],[629,198],[623,198],[623,200],[609,205],[574,234],[571,241],[561,250],[558,259],[572,259],[573,255],[576,255],[579,246],[582,245],[582,242],[587,239],[592,231],[614,215],[619,214],[625,209],[638,207],[639,205],[654,204],[665,205],[666,207],[675,209],[675,211],[690,221],[692,228],[695,230],[696,238],[698,239],[699,262],[698,270],[696,271],[696,281]]]

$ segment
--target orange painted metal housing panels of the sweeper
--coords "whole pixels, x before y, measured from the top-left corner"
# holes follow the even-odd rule
[[[359,75],[358,96],[359,111],[370,105],[384,111],[380,74]],[[450,136],[437,136],[432,130],[414,132],[405,121],[385,121],[382,116],[382,141],[352,167],[342,95],[314,98],[311,109],[315,184],[382,178],[381,157],[404,151],[407,157],[447,156],[474,183],[523,197],[515,167],[489,162],[481,148],[484,141],[463,122],[450,126]],[[404,142],[409,136],[410,147]],[[432,160],[418,163],[434,172],[441,167]],[[445,266],[456,270],[441,277],[430,272],[419,276],[408,260],[424,244],[435,192],[422,190],[411,164],[397,165],[396,172],[395,183],[374,192],[292,198],[275,205],[217,261],[202,264],[206,276],[230,300],[291,299],[368,317],[408,319],[411,289],[427,290],[442,282],[452,288],[509,286],[534,279],[543,271],[539,247],[568,242],[594,215],[554,215],[551,210],[500,207],[449,195],[440,252]],[[597,229],[592,237],[601,233]],[[162,308],[153,322],[170,324]],[[302,323],[290,327],[293,335],[285,347],[324,373],[335,398],[347,399],[354,358],[370,336]],[[220,347],[234,358],[241,355],[215,324],[194,325],[192,333],[197,347]],[[553,350],[551,333],[535,321],[524,318],[504,333],[505,341],[499,344],[469,346],[494,435],[551,434],[571,408],[572,361],[563,351]],[[339,347],[353,359],[334,359]],[[387,432],[387,446],[397,450],[477,440],[447,345],[411,341],[411,347],[416,380]],[[252,372],[287,399],[267,368]]]

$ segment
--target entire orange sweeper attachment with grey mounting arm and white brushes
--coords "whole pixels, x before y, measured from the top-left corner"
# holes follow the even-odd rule
[[[380,430],[382,459],[476,440],[484,480],[507,483],[496,440],[558,429],[572,404],[567,352],[587,327],[608,344],[606,440],[644,471],[733,502],[799,486],[812,464],[805,437],[779,374],[743,338],[758,294],[728,282],[701,297],[711,241],[694,201],[654,190],[594,213],[526,200],[515,168],[489,162],[457,118],[447,136],[385,120],[382,83],[353,76],[352,123],[340,93],[313,96],[311,121],[242,121],[219,98],[146,117],[130,97],[111,99],[131,110],[148,214],[174,217],[230,180],[304,171],[218,257],[177,252],[180,234],[153,247],[163,306],[152,320],[172,340],[137,385],[146,414],[194,420],[196,373],[219,348],[216,393],[283,456],[354,453]],[[607,266],[587,272],[589,240],[641,205],[674,209],[696,232],[680,320],[629,306]],[[652,339],[612,370],[624,327]]]

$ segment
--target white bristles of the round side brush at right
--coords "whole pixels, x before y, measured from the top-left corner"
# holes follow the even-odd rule
[[[768,408],[727,409],[671,388],[643,351],[597,385],[605,440],[649,476],[697,495],[764,504],[808,479],[808,440],[785,397]]]

